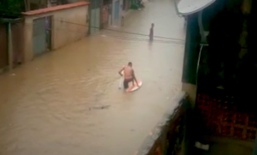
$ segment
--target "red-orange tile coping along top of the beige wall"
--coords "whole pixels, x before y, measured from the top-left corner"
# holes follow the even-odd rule
[[[89,5],[89,2],[80,1],[80,2],[77,2],[77,3],[57,5],[57,6],[54,6],[54,7],[46,7],[46,8],[43,8],[43,9],[22,12],[22,15],[31,16],[31,15],[41,14],[41,13],[48,13],[48,12],[52,12],[52,11],[68,9],[68,8],[72,8],[72,7],[79,7],[79,6],[83,6],[83,5]]]

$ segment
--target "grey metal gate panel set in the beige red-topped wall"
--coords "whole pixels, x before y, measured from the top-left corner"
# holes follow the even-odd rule
[[[33,52],[40,55],[46,52],[46,18],[33,21]]]

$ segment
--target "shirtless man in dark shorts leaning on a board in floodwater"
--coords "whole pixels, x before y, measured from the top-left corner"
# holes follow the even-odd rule
[[[124,89],[129,88],[129,82],[132,82],[132,83],[133,83],[133,86],[134,86],[134,80],[135,80],[136,83],[137,83],[137,79],[136,79],[136,77],[135,77],[134,70],[132,69],[132,63],[129,62],[128,65],[124,66],[124,67],[119,71],[120,76],[123,76],[123,75],[121,74],[122,71],[124,71],[124,82],[123,82]],[[138,86],[138,83],[137,83],[137,86]]]

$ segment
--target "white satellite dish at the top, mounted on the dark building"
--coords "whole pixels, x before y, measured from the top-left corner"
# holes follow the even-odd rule
[[[211,5],[216,0],[175,0],[175,7],[180,15],[190,15]]]

